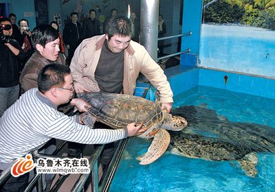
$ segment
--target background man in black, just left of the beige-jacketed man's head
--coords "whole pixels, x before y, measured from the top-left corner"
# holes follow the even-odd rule
[[[78,22],[78,14],[76,12],[71,13],[71,21],[65,25],[63,40],[68,49],[67,64],[69,65],[74,56],[76,47],[78,47],[83,40],[83,28]]]

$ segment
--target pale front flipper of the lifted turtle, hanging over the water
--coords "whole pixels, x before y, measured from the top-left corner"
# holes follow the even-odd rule
[[[162,156],[170,143],[170,134],[168,131],[160,129],[154,136],[152,144],[148,151],[142,158],[140,158],[140,165],[148,165],[153,163],[157,158]]]

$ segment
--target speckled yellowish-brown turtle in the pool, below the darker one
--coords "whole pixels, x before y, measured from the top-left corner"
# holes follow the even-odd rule
[[[169,151],[172,154],[204,160],[236,160],[247,176],[255,177],[258,158],[251,148],[234,145],[218,138],[196,134],[171,134]]]

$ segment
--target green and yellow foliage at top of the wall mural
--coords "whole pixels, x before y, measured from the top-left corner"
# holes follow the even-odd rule
[[[275,29],[275,0],[205,0],[203,4],[203,23]]]

